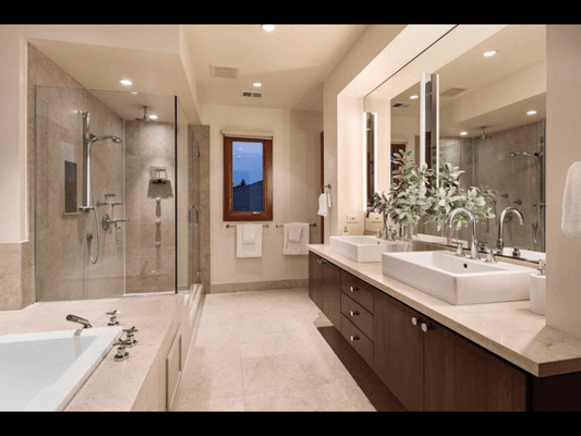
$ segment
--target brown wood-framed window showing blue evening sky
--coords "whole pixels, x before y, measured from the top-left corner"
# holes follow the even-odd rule
[[[273,140],[225,135],[223,220],[273,220]]]

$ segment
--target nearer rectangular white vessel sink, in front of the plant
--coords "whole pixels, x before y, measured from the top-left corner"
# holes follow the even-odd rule
[[[453,305],[529,300],[533,268],[449,252],[383,253],[383,272]]]

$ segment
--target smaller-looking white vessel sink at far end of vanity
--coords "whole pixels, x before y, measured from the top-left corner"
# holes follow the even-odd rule
[[[407,242],[365,235],[330,237],[329,242],[331,251],[354,262],[382,262],[382,253],[408,250]]]

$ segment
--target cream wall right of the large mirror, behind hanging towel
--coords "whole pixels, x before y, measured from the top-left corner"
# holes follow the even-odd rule
[[[581,160],[581,26],[547,26],[546,324],[581,337],[581,240],[560,228],[569,166]]]

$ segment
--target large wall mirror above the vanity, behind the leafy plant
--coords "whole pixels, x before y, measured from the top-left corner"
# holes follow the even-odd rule
[[[376,191],[389,189],[390,177],[379,177],[391,167],[388,154],[413,150],[416,162],[425,161],[434,170],[439,158],[439,167],[449,162],[463,171],[463,190],[476,186],[495,194],[487,199],[495,218],[479,221],[480,243],[497,246],[501,228],[503,255],[544,257],[545,45],[544,25],[459,25],[366,96],[365,110],[376,113],[376,156],[384,156],[375,164]],[[431,130],[437,136],[428,135],[424,143],[425,119],[421,120],[429,113],[422,113],[422,80],[434,75],[439,120]],[[507,208],[518,209],[524,225]],[[373,220],[365,223],[370,231],[376,230],[374,226]],[[449,242],[427,220],[420,223],[419,233]],[[453,237],[470,241],[471,229]]]

